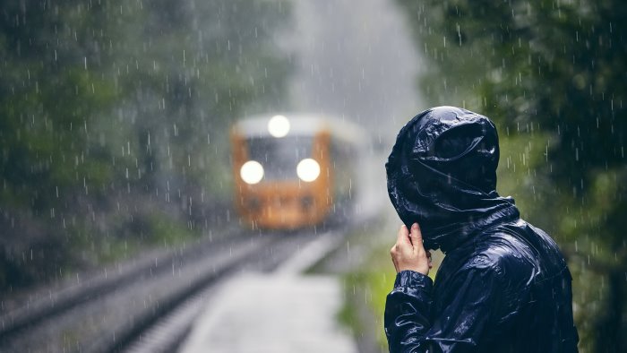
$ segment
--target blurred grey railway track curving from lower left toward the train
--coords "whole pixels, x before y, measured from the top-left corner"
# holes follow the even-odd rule
[[[133,263],[5,314],[0,351],[170,351],[220,279],[271,271],[314,238],[231,232]]]

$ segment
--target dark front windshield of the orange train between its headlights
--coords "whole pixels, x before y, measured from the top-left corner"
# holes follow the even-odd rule
[[[248,158],[263,166],[266,180],[297,179],[298,162],[312,156],[312,136],[252,137],[247,141]]]

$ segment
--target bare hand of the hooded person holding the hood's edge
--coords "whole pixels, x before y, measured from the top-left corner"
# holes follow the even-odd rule
[[[417,223],[411,226],[411,232],[403,225],[399,229],[399,238],[390,250],[392,263],[396,272],[417,271],[429,274],[429,269],[433,267],[431,263],[431,252],[425,251],[423,246],[423,236]]]

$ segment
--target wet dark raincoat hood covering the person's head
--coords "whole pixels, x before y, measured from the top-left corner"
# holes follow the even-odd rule
[[[496,193],[499,142],[485,116],[455,107],[427,109],[402,127],[385,164],[388,194],[426,249],[447,252],[477,231],[515,220],[511,197]]]

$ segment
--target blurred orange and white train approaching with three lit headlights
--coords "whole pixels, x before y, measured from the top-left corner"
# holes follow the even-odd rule
[[[365,133],[339,119],[252,116],[231,131],[235,204],[253,228],[295,229],[350,216]]]

